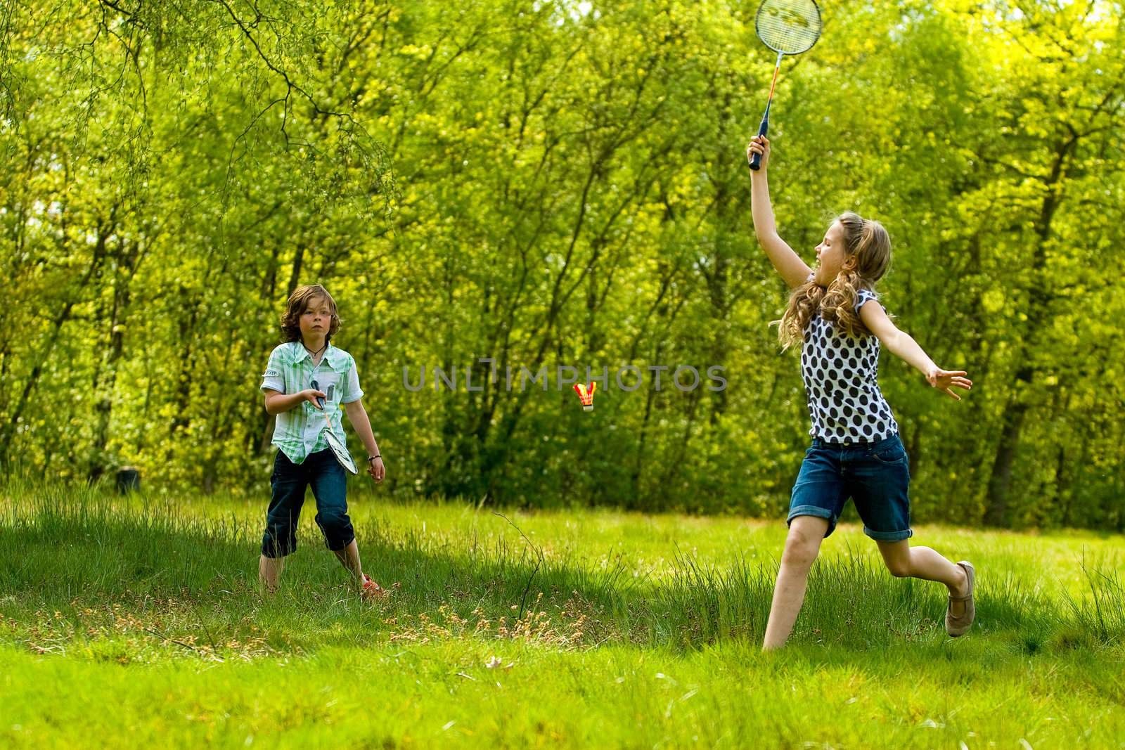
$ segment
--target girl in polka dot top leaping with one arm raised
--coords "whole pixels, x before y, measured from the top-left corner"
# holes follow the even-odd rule
[[[777,235],[766,168],[770,141],[756,136],[746,156],[762,154],[752,172],[754,231],[777,272],[793,289],[781,319],[783,346],[801,342],[801,376],[812,417],[812,446],[793,485],[789,535],[782,553],[763,650],[785,644],[804,600],[809,568],[820,542],[832,533],[848,497],[863,531],[875,540],[892,576],[936,580],[950,589],[945,631],[961,635],[974,617],[975,571],[953,564],[927,546],[911,548],[910,473],[898,424],[879,390],[880,343],[920,370],[934,388],[955,400],[953,388],[972,381],[963,371],[938,368],[876,301],[875,282],[891,262],[891,241],[879,222],[844,214],[817,245],[810,269]]]

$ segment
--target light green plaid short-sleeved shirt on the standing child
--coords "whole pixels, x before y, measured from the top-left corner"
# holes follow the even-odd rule
[[[270,353],[260,389],[296,394],[312,388],[313,380],[316,380],[317,390],[327,394],[324,412],[304,401],[279,414],[273,440],[270,441],[294,463],[302,463],[309,453],[328,446],[321,434],[325,412],[332,423],[332,431],[346,444],[343,410],[340,407],[363,396],[359,387],[359,374],[356,372],[356,360],[351,354],[328,344],[321,363],[314,368],[312,355],[299,341],[281,344]]]

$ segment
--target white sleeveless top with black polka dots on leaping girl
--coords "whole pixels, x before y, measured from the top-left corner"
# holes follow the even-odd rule
[[[860,289],[856,313],[871,299],[878,299],[875,292]],[[878,368],[878,336],[850,338],[813,315],[801,346],[809,434],[829,443],[870,443],[897,434],[899,425],[879,390]]]

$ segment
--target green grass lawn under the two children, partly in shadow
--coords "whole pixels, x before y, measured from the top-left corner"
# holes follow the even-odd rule
[[[916,528],[976,566],[953,640],[844,525],[763,654],[780,521],[350,504],[389,602],[312,498],[263,598],[264,497],[0,489],[0,747],[1125,748],[1120,536]]]

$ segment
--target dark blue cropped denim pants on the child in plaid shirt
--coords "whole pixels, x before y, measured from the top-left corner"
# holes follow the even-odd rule
[[[316,498],[316,525],[324,534],[324,543],[338,551],[356,539],[351,518],[348,517],[348,481],[331,450],[309,453],[302,463],[294,463],[278,451],[270,476],[272,497],[266,514],[266,534],[262,554],[284,558],[297,549],[297,521],[305,504],[305,488],[313,487]]]

